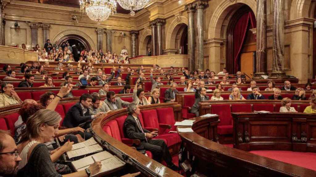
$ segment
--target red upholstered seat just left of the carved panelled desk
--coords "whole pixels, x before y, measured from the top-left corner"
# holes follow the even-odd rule
[[[220,123],[217,126],[218,134],[232,134],[233,133],[233,119],[230,114],[230,105],[219,104],[211,106],[212,114],[219,115]]]

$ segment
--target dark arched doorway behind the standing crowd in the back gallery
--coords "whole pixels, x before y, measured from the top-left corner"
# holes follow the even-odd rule
[[[61,46],[63,43],[68,42],[69,45],[72,47],[72,54],[74,55],[75,61],[79,60],[80,52],[84,49],[87,49],[88,51],[91,49],[91,46],[87,42],[86,39],[84,39],[81,36],[78,35],[67,35],[58,40],[58,46]]]

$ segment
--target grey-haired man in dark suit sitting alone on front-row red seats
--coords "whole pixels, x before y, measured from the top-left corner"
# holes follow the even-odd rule
[[[164,140],[153,139],[158,135],[158,131],[150,132],[142,127],[138,116],[140,110],[135,103],[127,106],[128,117],[124,122],[124,134],[130,139],[139,139],[141,143],[136,146],[137,150],[148,150],[153,156],[154,160],[161,162],[162,159],[167,163],[168,168],[172,170],[180,170],[175,164],[172,163],[172,157],[168,151],[168,147]]]

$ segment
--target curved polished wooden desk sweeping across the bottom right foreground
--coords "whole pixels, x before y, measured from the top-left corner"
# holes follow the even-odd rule
[[[218,116],[197,119],[192,126],[193,133],[179,133],[190,155],[197,159],[195,162],[198,172],[206,176],[227,177],[316,176],[316,171],[230,148],[209,140],[214,140],[214,138],[211,138],[212,136],[205,133],[203,129],[205,126],[215,125],[217,122]],[[215,130],[215,127],[213,129]]]

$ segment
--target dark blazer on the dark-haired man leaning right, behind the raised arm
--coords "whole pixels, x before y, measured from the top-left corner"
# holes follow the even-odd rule
[[[91,116],[88,111],[83,114],[80,103],[76,103],[66,113],[63,126],[68,128],[78,127],[79,124],[85,123],[91,120]]]

